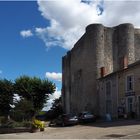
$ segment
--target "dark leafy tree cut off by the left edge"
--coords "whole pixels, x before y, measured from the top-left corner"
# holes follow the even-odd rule
[[[8,117],[13,104],[13,83],[6,79],[0,80],[0,116]]]

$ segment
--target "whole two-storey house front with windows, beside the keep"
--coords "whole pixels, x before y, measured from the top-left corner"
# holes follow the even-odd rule
[[[98,79],[98,93],[100,116],[140,118],[140,61]]]

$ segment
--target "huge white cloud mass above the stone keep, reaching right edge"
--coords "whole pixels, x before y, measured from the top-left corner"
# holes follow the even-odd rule
[[[88,1],[88,0],[85,0]],[[92,23],[115,26],[130,22],[140,27],[140,1],[134,0],[38,0],[41,15],[50,20],[50,26],[36,28],[36,34],[47,47],[61,46],[71,49]]]

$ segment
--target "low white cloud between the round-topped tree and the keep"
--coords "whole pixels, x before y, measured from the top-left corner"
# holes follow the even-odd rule
[[[56,91],[52,95],[49,95],[49,100],[47,101],[43,110],[48,111],[52,107],[54,100],[58,99],[60,96],[61,96],[61,91],[59,91],[58,88],[56,87]]]

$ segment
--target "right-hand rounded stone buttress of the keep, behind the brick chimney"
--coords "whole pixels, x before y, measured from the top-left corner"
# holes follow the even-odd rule
[[[134,27],[132,24],[121,24],[117,27],[118,34],[118,70],[122,69],[121,61],[126,56],[128,64],[135,62]]]

